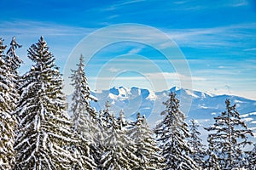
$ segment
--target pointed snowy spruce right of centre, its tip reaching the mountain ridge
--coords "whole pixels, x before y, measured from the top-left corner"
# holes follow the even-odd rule
[[[165,158],[164,169],[197,169],[195,161],[189,157],[191,150],[185,141],[189,137],[189,129],[183,112],[179,110],[179,100],[175,93],[169,95],[170,99],[163,103],[166,110],[161,112],[164,120],[154,130],[160,142],[161,155]]]

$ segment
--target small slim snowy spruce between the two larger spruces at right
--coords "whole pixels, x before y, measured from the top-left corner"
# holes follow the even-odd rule
[[[201,143],[200,135],[201,133],[198,130],[200,125],[194,120],[190,120],[190,136],[188,139],[189,148],[192,150],[192,153],[189,155],[192,160],[196,162],[199,167],[204,165],[204,157],[206,156],[205,145]]]

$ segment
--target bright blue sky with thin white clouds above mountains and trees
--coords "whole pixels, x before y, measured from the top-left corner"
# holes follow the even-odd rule
[[[85,71],[92,89],[122,85],[160,91],[182,86],[256,99],[256,3],[253,0],[10,0],[1,1],[1,7],[0,37],[9,44],[15,36],[23,45],[17,50],[24,60],[20,72],[32,65],[26,49],[43,35],[55,55],[56,65],[64,73],[67,94],[72,91],[67,68],[78,61],[79,54],[73,56],[78,47],[95,48],[106,39],[130,36],[140,41],[114,42],[90,57],[85,56],[87,49],[81,50],[88,57]],[[124,23],[133,24],[122,27]],[[113,27],[108,34],[86,41],[98,29],[117,24],[119,27]],[[170,62],[160,50],[148,45],[148,37],[156,42],[163,39],[154,29],[143,30],[137,24],[166,34],[181,53],[172,51],[174,58]],[[160,45],[169,47],[166,42]],[[192,84],[188,85],[190,78]]]

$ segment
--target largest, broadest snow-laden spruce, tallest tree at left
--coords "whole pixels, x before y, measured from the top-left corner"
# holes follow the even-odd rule
[[[73,139],[67,115],[62,79],[55,58],[40,37],[28,49],[34,65],[23,76],[16,114],[19,118],[15,169],[70,169],[73,161],[67,150]]]

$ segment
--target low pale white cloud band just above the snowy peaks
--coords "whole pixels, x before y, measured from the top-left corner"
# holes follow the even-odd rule
[[[173,86],[189,88],[191,87],[191,81],[201,82],[205,80],[202,77],[190,77],[177,74],[175,72],[154,72],[144,73],[141,76],[123,76],[121,74],[113,75],[109,77],[89,77],[90,85],[96,89],[108,89],[113,86],[125,86],[133,87],[137,86],[140,88],[148,88],[154,91],[162,91]]]

